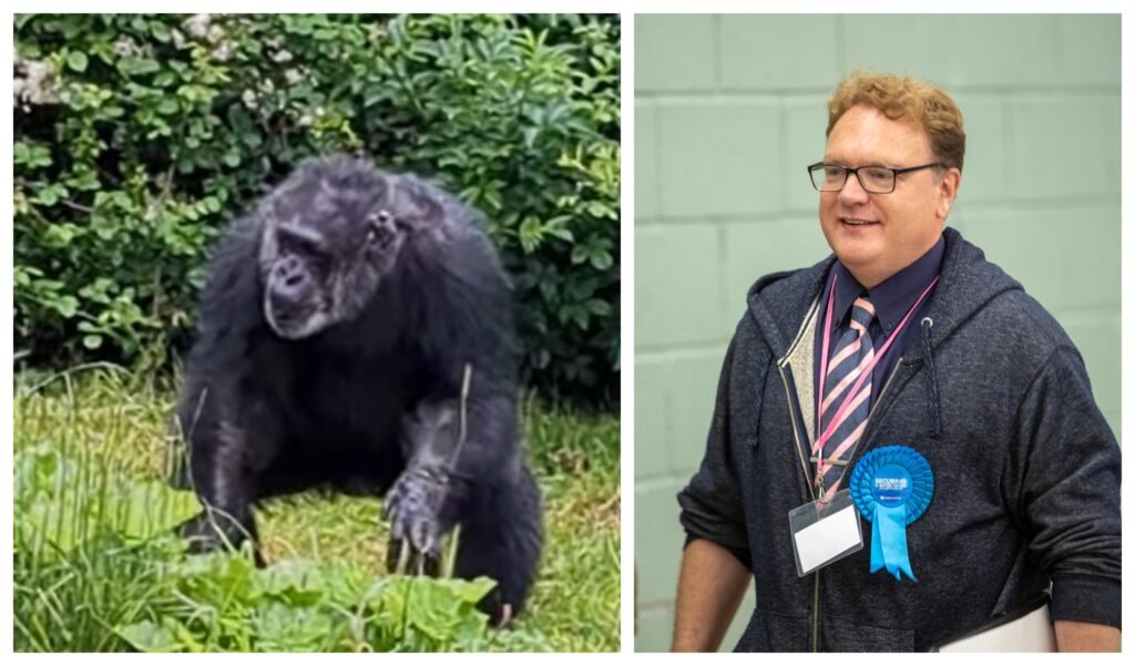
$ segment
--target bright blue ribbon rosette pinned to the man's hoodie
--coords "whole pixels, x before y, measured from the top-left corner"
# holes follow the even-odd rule
[[[901,581],[917,582],[907,553],[907,525],[930,506],[934,473],[930,463],[908,446],[876,448],[856,464],[849,483],[859,514],[872,522],[871,572],[881,568]]]

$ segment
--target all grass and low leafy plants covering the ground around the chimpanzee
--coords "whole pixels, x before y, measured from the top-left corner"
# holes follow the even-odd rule
[[[17,650],[619,648],[615,419],[526,401],[547,546],[528,613],[485,632],[470,622],[477,583],[384,571],[378,499],[268,504],[266,570],[186,559],[169,531],[196,500],[162,482],[171,401],[112,369],[17,378]]]

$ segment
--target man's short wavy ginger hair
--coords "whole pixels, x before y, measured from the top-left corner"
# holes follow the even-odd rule
[[[935,159],[947,168],[957,167],[966,157],[966,133],[961,110],[936,85],[913,76],[852,73],[835,86],[827,101],[827,134],[850,109],[867,104],[892,120],[907,119],[922,127],[930,137]]]

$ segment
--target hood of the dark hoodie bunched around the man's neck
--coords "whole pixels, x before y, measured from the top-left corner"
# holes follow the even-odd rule
[[[956,229],[947,227],[942,236],[945,238],[942,275],[924,314],[933,320],[933,342],[927,339],[930,349],[1001,294],[1023,290],[1020,283],[986,261],[985,253]],[[810,268],[767,275],[749,288],[749,314],[774,357],[788,353],[834,262],[835,256],[829,255]],[[916,354],[924,352],[919,349]]]

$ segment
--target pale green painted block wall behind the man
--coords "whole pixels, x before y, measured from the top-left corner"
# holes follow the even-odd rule
[[[670,644],[674,496],[701,458],[746,290],[830,252],[805,167],[852,69],[957,100],[968,144],[949,224],[1060,320],[1118,437],[1119,34],[1118,16],[636,17],[638,650]]]

